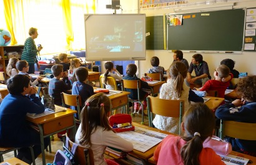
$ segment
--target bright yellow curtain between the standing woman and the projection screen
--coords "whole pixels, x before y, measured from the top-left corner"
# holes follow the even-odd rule
[[[67,50],[71,50],[71,41],[74,41],[74,34],[72,30],[71,4],[69,0],[62,0],[62,13],[66,32]]]

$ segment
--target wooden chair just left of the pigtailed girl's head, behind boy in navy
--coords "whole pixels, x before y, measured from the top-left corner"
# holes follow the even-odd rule
[[[69,95],[67,93],[62,92],[61,93],[61,100],[62,100],[62,106],[66,107],[68,106],[77,106],[77,114],[79,121],[81,120],[80,114],[81,114],[81,106],[82,106],[82,100],[80,95]]]

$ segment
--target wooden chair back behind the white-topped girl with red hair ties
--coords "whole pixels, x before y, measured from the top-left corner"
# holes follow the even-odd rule
[[[64,144],[66,143],[66,136],[63,137]],[[74,142],[69,139],[69,149],[72,148]],[[85,148],[83,146],[77,146],[76,153],[74,154],[74,160],[77,164],[90,164],[94,165],[93,151],[91,148]]]

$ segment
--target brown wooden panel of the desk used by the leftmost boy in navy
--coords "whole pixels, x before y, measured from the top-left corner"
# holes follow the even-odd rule
[[[44,135],[54,133],[56,131],[62,130],[64,128],[67,128],[69,126],[74,125],[74,116],[69,115],[65,116],[64,118],[61,118],[59,120],[52,120],[47,123],[44,123],[42,126],[44,130]]]

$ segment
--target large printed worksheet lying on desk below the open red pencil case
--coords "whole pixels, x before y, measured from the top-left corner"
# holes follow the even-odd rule
[[[117,134],[127,141],[130,141],[134,149],[142,153],[145,153],[145,151],[160,143],[162,139],[167,136],[167,134],[164,133],[136,127],[135,131],[125,131]]]

